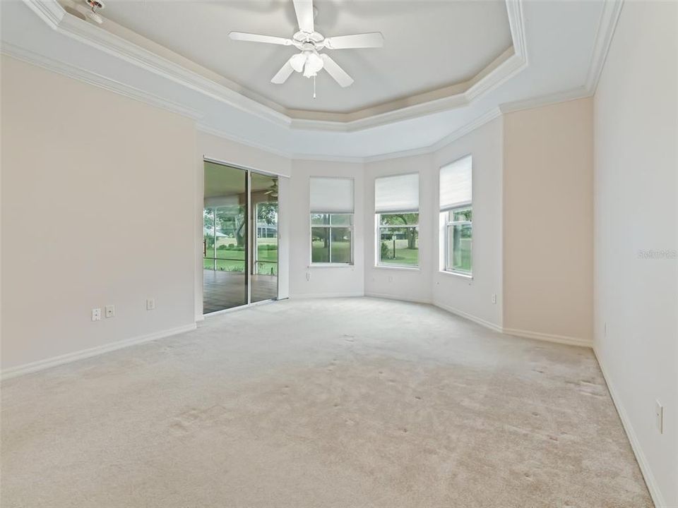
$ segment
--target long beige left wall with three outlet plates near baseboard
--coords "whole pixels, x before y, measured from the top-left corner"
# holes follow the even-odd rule
[[[1,84],[2,368],[193,325],[193,122],[6,56]]]

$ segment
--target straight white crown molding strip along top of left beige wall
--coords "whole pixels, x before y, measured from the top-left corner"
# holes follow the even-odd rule
[[[31,52],[28,49],[20,48],[9,42],[2,43],[0,52],[7,56],[11,56],[13,59],[25,61],[26,63],[31,63],[32,65],[47,69],[47,71],[59,73],[61,75],[68,76],[69,78],[104,88],[110,92],[116,92],[120,95],[124,95],[125,97],[129,97],[130,99],[145,102],[151,106],[166,109],[167,111],[172,111],[172,113],[187,116],[193,120],[199,120],[203,117],[202,112],[196,109],[191,109],[182,106],[182,104],[168,101],[167,99],[163,99],[157,95],[150,94],[144,90],[139,90],[138,88],[126,85],[125,83],[120,83],[119,81],[112,80],[111,78],[107,78],[92,71],[88,71],[87,69],[71,66],[68,63],[47,58],[47,56],[42,56],[35,52]]]

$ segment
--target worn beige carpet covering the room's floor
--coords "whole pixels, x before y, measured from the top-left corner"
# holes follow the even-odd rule
[[[641,508],[593,353],[285,301],[8,380],[1,505]]]

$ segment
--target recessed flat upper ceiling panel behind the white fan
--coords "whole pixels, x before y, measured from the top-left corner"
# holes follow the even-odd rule
[[[381,32],[383,48],[326,50],[354,79],[341,88],[321,72],[270,78],[297,50],[232,41],[232,30],[292,37],[291,0],[108,0],[107,19],[246,87],[285,109],[352,112],[470,80],[511,47],[503,0],[316,0],[316,31],[326,37]]]

